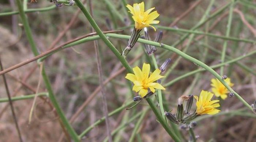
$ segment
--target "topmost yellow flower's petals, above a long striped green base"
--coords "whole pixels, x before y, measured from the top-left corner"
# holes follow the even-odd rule
[[[139,4],[135,3],[133,4],[133,7],[127,4],[126,7],[130,10],[128,12],[132,13],[133,15],[132,19],[135,21],[136,30],[143,29],[144,27],[152,27],[156,31],[155,27],[150,25],[159,23],[158,20],[155,20],[159,16],[157,11],[150,13],[153,9],[155,9],[154,7],[144,11],[144,2]]]

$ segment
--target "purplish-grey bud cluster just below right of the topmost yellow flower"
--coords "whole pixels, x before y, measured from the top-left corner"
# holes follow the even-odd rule
[[[157,37],[155,38],[155,42],[160,42],[162,37],[163,37],[163,32],[160,31]],[[144,28],[144,36],[142,36],[142,38],[146,40],[151,40],[150,36],[148,35],[147,28]],[[144,47],[148,55],[152,55],[155,51],[157,51],[157,47],[155,46],[144,44]]]

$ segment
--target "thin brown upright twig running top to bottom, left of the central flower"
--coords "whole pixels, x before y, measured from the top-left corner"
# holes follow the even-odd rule
[[[91,13],[91,16],[93,17],[93,5],[92,5],[91,0],[89,0],[89,5],[90,5],[90,13]],[[91,32],[94,32],[93,27],[91,28]],[[108,104],[107,104],[106,92],[105,92],[105,88],[103,85],[103,79],[102,79],[102,68],[101,68],[101,59],[99,58],[98,42],[97,42],[97,40],[94,40],[93,43],[94,43],[95,55],[96,55],[96,59],[97,59],[97,68],[98,68],[98,74],[99,74],[99,86],[101,87],[101,97],[102,97],[102,103],[103,103],[103,111],[104,111],[103,113],[105,115],[106,129],[107,129],[109,142],[112,142],[111,130],[110,130],[110,126],[109,126],[109,117],[108,117]]]

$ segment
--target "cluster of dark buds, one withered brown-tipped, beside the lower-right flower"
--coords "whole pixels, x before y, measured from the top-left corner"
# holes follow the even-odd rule
[[[185,109],[183,108],[184,101],[187,102]],[[193,104],[193,95],[188,95],[188,96],[182,95],[180,98],[178,98],[177,113],[171,114],[171,113],[165,112],[165,116],[171,122],[173,122],[177,125],[179,123],[190,122],[192,119],[197,117],[196,113],[192,113],[192,114],[189,113],[192,104]]]

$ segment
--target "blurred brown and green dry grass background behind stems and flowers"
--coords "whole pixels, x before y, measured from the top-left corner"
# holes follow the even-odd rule
[[[85,0],[87,8],[89,7],[88,1]],[[123,29],[122,34],[131,34],[133,21],[131,21],[123,2],[124,0],[92,0],[94,19],[102,31]],[[127,0],[128,4],[139,2],[141,1]],[[227,42],[225,61],[246,55],[255,50],[256,1],[236,0],[234,2],[232,23],[229,27],[231,38],[225,40],[230,2],[232,1],[145,0],[146,9],[155,7],[160,14],[157,19],[160,21],[156,26],[157,32],[149,29],[151,39],[154,39],[157,33],[162,30],[164,35],[161,43],[172,45],[201,60],[208,66],[221,63],[221,52],[225,41]],[[28,10],[34,9],[27,12],[27,17],[33,39],[40,53],[45,52],[51,46],[56,47],[91,32],[90,23],[76,6],[63,5],[56,7],[54,3],[47,0],[38,0],[37,3],[27,1],[25,5],[27,5]],[[225,5],[227,6],[225,7]],[[46,9],[45,11],[38,11],[38,8]],[[223,10],[219,11],[222,8]],[[6,13],[11,11],[18,11],[15,1],[1,0],[0,57],[4,68],[14,66],[34,56],[30,50],[30,44],[19,15]],[[216,12],[218,13],[211,17]],[[202,17],[206,22],[196,27],[200,24]],[[197,32],[195,35],[191,34],[181,41],[182,36],[194,31]],[[141,33],[143,34],[143,32]],[[210,34],[205,36],[207,33]],[[98,41],[103,79],[107,80],[105,89],[108,110],[111,112],[130,102],[136,94],[131,91],[132,84],[124,78],[127,72],[122,69],[120,61],[105,43],[101,40]],[[119,51],[124,49],[127,44],[127,40],[124,39],[110,38],[110,41]],[[163,80],[163,85],[200,68],[172,52],[163,54],[165,51],[158,48],[155,52],[158,66],[161,66],[167,58],[172,59],[172,63],[166,71],[169,75]],[[239,60],[239,62],[224,66],[223,75],[231,78],[234,83],[232,88],[249,104],[252,104],[256,99],[255,57],[255,55],[251,55]],[[136,43],[128,54],[127,60],[133,62],[130,63],[132,67],[142,67],[144,62],[152,63],[151,58],[144,52],[143,44],[140,43]],[[78,134],[104,116],[93,42],[82,43],[56,52],[45,60],[44,66],[65,116],[71,119],[76,111],[82,108],[82,111],[79,115],[76,115],[76,119],[72,123]],[[215,71],[220,72],[219,68],[215,68]],[[12,96],[35,94],[39,79],[37,62],[29,63],[8,72],[6,77]],[[178,79],[166,86],[166,90],[162,91],[166,99],[164,102],[165,111],[176,110],[177,99],[181,95],[199,95],[201,90],[211,91],[210,80],[212,78],[214,76],[210,72],[204,71]],[[42,82],[39,92],[44,94],[46,91]],[[0,97],[7,97],[2,78],[0,81]],[[30,125],[28,124],[29,111],[33,99],[17,100],[13,103],[24,141],[69,141],[67,137],[61,139],[63,129],[47,96],[37,99]],[[129,141],[135,125],[139,122],[140,113],[147,110],[147,106],[147,103],[142,102],[131,110],[121,109],[109,118],[112,131],[119,126],[123,126],[114,135],[114,141]],[[192,109],[195,109],[195,105]],[[199,135],[198,141],[256,141],[255,115],[249,109],[245,109],[244,104],[236,97],[227,98],[221,101],[221,110],[220,115],[213,117],[207,115],[196,119],[197,126],[194,132]],[[136,118],[129,121],[133,116],[136,116]],[[133,141],[172,141],[156,121],[151,110],[144,113],[144,117],[140,118],[142,122]],[[186,130],[181,131],[184,137],[189,137]],[[102,121],[87,133],[82,141],[103,141],[106,136],[105,123]],[[19,141],[7,101],[0,103],[0,141]]]

